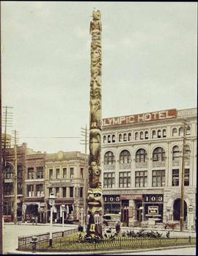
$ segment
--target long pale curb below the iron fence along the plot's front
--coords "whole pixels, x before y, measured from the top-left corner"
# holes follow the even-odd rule
[[[136,252],[150,252],[150,251],[159,251],[159,250],[169,250],[169,249],[180,249],[180,248],[196,248],[196,245],[184,245],[184,246],[166,246],[166,247],[154,247],[154,248],[145,248],[145,249],[126,249],[122,250],[122,252],[118,250],[104,252],[104,251],[98,251],[98,252],[23,252],[23,251],[10,251],[7,252],[7,255],[111,255],[111,254],[125,254],[125,253],[136,253]]]

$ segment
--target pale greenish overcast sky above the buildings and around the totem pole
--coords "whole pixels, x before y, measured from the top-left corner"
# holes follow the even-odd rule
[[[89,125],[92,10],[101,12],[102,115],[197,106],[196,2],[1,1],[2,106],[34,150],[80,150]]]

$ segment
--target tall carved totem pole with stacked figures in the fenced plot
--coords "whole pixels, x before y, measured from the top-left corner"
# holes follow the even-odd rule
[[[87,237],[102,238],[101,151],[101,23],[100,11],[94,10],[89,32],[91,43],[89,189],[87,198]]]

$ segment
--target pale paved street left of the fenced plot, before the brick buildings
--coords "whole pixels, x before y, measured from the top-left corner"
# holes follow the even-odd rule
[[[76,228],[76,225],[65,224],[65,230],[71,230]],[[54,226],[53,232],[61,231],[61,226]],[[50,231],[50,225],[15,225],[15,224],[4,224],[3,229],[3,250],[4,254],[8,251],[15,250],[18,247],[18,236],[20,235],[36,235],[39,233],[46,233]]]

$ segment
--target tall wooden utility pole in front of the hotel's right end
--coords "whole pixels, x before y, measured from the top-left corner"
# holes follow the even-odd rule
[[[186,146],[186,129],[188,124],[183,121],[183,153],[182,153],[182,173],[181,173],[181,200],[180,200],[180,231],[183,231],[184,220],[184,177],[185,177],[185,146]]]

